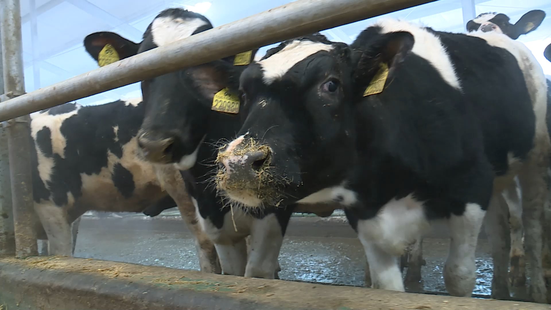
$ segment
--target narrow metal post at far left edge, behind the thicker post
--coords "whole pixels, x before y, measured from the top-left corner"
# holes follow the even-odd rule
[[[0,38],[0,72],[2,72],[2,38]],[[0,74],[0,94],[4,77]],[[13,231],[12,185],[9,180],[8,131],[0,126],[0,255],[15,255]]]

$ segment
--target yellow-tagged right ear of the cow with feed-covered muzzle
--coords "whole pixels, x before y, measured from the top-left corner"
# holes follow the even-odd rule
[[[393,74],[413,49],[413,35],[406,31],[383,34],[363,51],[355,51],[353,73],[355,95],[377,94],[383,91]]]

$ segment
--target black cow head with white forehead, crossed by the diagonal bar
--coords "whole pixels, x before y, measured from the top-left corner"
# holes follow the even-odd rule
[[[96,33],[85,39],[85,46],[99,60],[100,50],[111,44],[122,58],[212,28],[203,15],[173,8],[155,17],[140,44],[113,33]],[[250,59],[255,53],[256,50],[252,51]],[[195,164],[199,146],[207,134],[209,117],[220,113],[211,109],[214,95],[225,88],[230,94],[237,93],[239,74],[246,66],[234,66],[234,58],[230,56],[142,81],[145,116],[138,132],[138,144],[145,159],[156,164],[175,164],[181,170]]]

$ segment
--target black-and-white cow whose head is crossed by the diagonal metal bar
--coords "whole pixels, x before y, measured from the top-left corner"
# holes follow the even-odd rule
[[[166,9],[148,26],[139,44],[113,33],[102,33],[103,40],[93,44],[97,47],[93,56],[97,59],[106,44],[114,46],[119,55],[135,55],[211,28],[212,24],[201,14]],[[249,61],[255,54],[256,50],[252,51]],[[208,182],[217,143],[241,127],[240,114],[211,109],[216,93],[228,88],[231,94],[237,89],[246,65],[234,66],[234,59],[230,56],[143,81],[145,119],[138,133],[137,152],[155,167],[190,169],[186,188],[200,214],[199,224],[215,243],[225,274],[274,278],[279,271],[279,248],[291,212],[231,212]],[[249,235],[247,258],[245,237]],[[259,255],[269,255],[269,262]]]

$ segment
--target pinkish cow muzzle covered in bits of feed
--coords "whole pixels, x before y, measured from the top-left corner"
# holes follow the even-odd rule
[[[244,136],[229,143],[217,156],[218,189],[230,199],[245,206],[260,207],[274,193],[271,167],[273,152],[268,145],[261,145]]]

